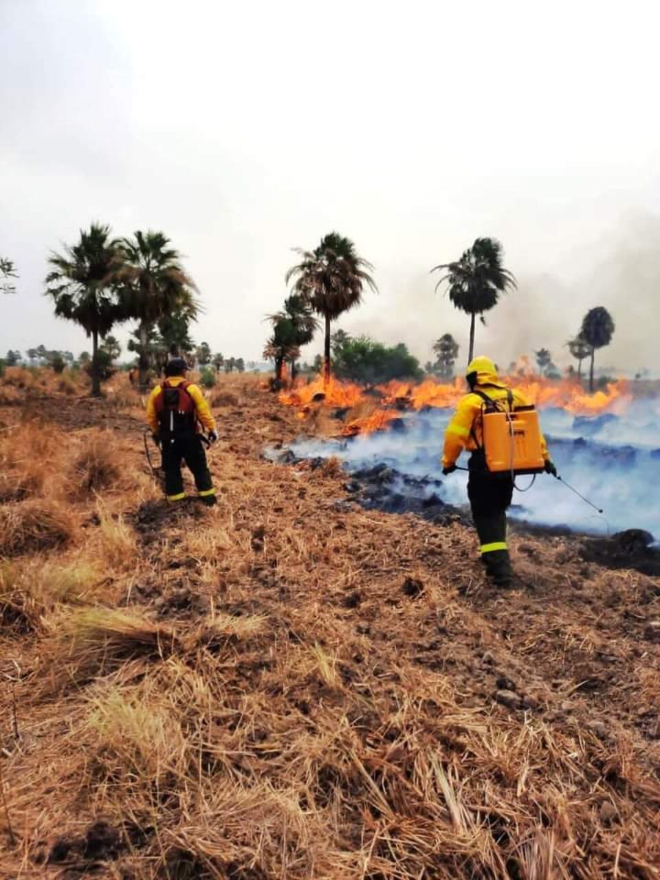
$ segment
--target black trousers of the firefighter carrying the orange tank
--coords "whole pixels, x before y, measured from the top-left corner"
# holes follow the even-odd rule
[[[489,473],[481,450],[473,452],[468,467],[467,496],[479,535],[481,561],[488,576],[495,581],[508,581],[511,563],[506,511],[513,497],[513,480],[510,473]]]

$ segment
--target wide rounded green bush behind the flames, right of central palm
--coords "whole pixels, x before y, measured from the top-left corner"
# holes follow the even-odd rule
[[[387,348],[368,336],[348,339],[335,349],[334,372],[354,382],[389,382],[390,379],[419,379],[423,371],[403,342]]]

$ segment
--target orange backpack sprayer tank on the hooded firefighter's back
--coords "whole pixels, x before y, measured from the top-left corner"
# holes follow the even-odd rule
[[[474,391],[484,400],[481,427],[486,466],[490,473],[541,473],[545,458],[541,446],[539,414],[535,407],[513,408],[513,394],[506,400],[492,400],[488,394]],[[499,404],[508,404],[500,409]]]

